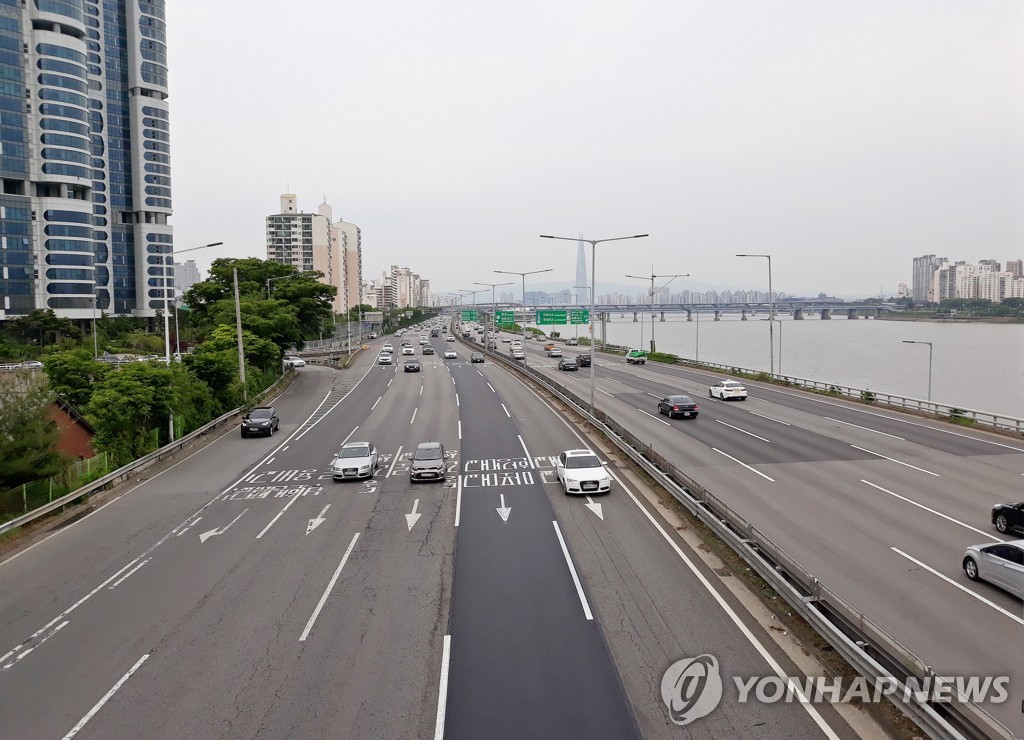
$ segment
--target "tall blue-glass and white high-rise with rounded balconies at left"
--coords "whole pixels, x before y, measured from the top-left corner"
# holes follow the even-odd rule
[[[164,3],[0,1],[0,319],[173,300]]]

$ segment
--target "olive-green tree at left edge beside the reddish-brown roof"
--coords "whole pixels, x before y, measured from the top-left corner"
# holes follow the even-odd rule
[[[56,475],[66,461],[56,450],[50,418],[53,392],[40,375],[4,378],[0,403],[0,490]]]

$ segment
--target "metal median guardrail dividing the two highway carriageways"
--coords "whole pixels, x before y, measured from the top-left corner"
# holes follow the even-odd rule
[[[860,676],[895,682],[890,700],[933,738],[1013,738],[1013,733],[982,707],[965,700],[929,701],[918,696],[931,668],[810,571],[790,557],[754,524],[676,468],[650,443],[639,439],[603,411],[596,418],[586,399],[531,366],[497,351],[487,356],[526,375],[571,406],[620,450],[663,485],[694,517],[734,550]]]

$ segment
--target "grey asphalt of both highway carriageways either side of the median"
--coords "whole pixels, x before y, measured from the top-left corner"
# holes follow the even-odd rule
[[[304,367],[273,401],[278,435],[231,428],[0,562],[0,737],[871,731],[827,704],[741,703],[733,677],[802,669],[608,451],[612,492],[566,497],[554,456],[594,443],[468,351],[419,374],[371,352]],[[665,426],[653,396],[710,376],[597,361],[600,406],[908,647],[1019,674],[1020,603],[966,581],[957,550],[996,538],[987,507],[1024,471],[1012,442],[760,387]],[[346,440],[377,446],[373,478],[331,480]],[[427,440],[449,477],[413,485]],[[680,728],[662,677],[703,654],[724,696]]]

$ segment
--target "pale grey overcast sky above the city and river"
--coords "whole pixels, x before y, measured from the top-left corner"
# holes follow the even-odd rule
[[[599,292],[651,268],[764,290],[733,256],[759,252],[776,291],[888,296],[922,254],[1024,256],[1019,0],[167,12],[176,249],[225,243],[179,258],[204,269],[265,259],[287,191],[361,227],[365,280],[397,264],[435,294],[572,285],[575,244],[542,233],[650,233],[597,247]]]

